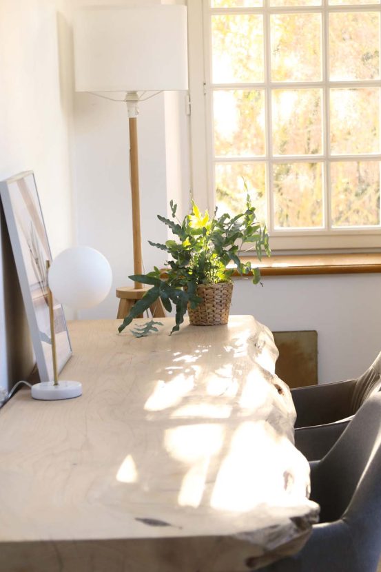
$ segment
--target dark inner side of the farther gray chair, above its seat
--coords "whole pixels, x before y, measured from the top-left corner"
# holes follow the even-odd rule
[[[296,387],[291,396],[296,409],[295,427],[311,427],[351,415],[351,397],[357,379]]]

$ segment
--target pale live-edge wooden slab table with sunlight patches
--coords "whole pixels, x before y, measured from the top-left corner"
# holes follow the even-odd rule
[[[1,572],[247,572],[318,518],[271,332],[251,316],[168,336],[70,323],[61,379],[0,411]]]

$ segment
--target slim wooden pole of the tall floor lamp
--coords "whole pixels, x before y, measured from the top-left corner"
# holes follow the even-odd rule
[[[139,169],[138,169],[138,130],[137,118],[129,118],[130,126],[130,170],[131,170],[131,201],[132,201],[132,242],[134,247],[134,274],[142,274],[143,263],[141,255],[141,209],[139,197]],[[143,288],[143,284],[135,282],[136,289]]]

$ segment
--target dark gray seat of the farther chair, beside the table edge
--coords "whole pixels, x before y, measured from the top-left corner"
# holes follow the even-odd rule
[[[322,459],[327,455],[329,449],[335,445],[351,419],[352,417],[349,417],[336,423],[295,429],[296,449],[309,461]],[[313,469],[315,469],[315,464],[311,465],[311,471],[313,471]]]

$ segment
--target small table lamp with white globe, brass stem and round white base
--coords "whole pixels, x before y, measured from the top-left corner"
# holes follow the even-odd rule
[[[51,264],[47,261],[46,266],[54,380],[32,385],[32,398],[70,399],[82,395],[82,385],[79,381],[58,380],[53,294],[60,303],[74,309],[92,307],[110,292],[112,271],[105,256],[87,246],[63,250]]]

